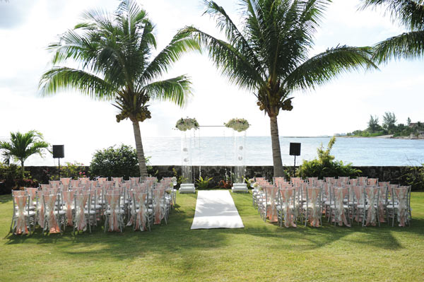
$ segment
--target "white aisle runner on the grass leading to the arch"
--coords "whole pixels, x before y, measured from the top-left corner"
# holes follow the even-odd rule
[[[244,227],[230,192],[199,191],[192,229]]]

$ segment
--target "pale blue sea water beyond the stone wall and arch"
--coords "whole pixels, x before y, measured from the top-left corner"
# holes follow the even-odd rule
[[[192,165],[232,165],[234,139],[227,137],[200,137],[192,139]],[[301,143],[302,160],[317,157],[317,148],[326,148],[330,137],[281,137],[281,157],[284,165],[293,165],[289,155],[290,142]],[[181,139],[177,137],[146,138],[146,155],[153,165],[181,165]],[[272,165],[271,137],[246,137],[246,165]],[[353,165],[419,165],[424,163],[424,140],[337,138],[331,155],[336,160]]]

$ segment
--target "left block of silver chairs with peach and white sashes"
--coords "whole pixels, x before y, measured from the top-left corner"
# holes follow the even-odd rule
[[[120,232],[125,225],[132,225],[134,230],[151,230],[162,220],[167,223],[170,209],[176,204],[172,178],[112,182],[60,180],[40,188],[13,191],[10,232],[28,234],[37,224],[43,234],[61,233],[66,226],[73,227],[73,233],[87,228],[91,232],[101,219],[105,231]]]

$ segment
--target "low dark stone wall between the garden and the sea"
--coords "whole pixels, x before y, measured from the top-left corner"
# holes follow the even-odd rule
[[[293,167],[286,167],[289,170],[292,170]],[[403,176],[405,174],[406,168],[408,167],[399,167],[399,166],[355,166],[353,168],[358,168],[362,171],[360,176],[367,176],[370,178],[378,178],[379,181],[390,181],[394,184],[404,184]],[[179,165],[153,165],[149,173],[155,175],[158,178],[162,177],[172,177],[174,172],[172,169],[177,171],[177,175],[181,175],[181,166]],[[40,182],[47,182],[49,177],[52,175],[57,175],[57,167],[43,167],[43,166],[28,166],[25,167],[25,170],[30,172],[30,175]],[[86,175],[89,175],[89,168],[83,167]],[[193,167],[195,179],[199,179],[199,166]],[[202,177],[213,177],[211,180],[211,187],[218,186],[220,180],[225,180],[225,175],[230,176],[231,172],[234,172],[234,167],[225,167],[219,165],[208,165],[201,167],[201,176]],[[94,177],[95,175],[90,175]],[[246,168],[246,177],[266,177],[271,180],[273,177],[273,167],[270,166],[247,166]]]

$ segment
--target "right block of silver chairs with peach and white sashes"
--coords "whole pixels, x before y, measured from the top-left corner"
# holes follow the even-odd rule
[[[269,219],[281,226],[284,222],[285,227],[295,227],[297,221],[320,226],[323,216],[328,222],[347,226],[353,221],[366,226],[390,220],[392,226],[395,220],[399,226],[411,225],[410,186],[363,178],[310,177],[305,181],[293,177],[287,182],[281,177],[271,184],[257,177],[252,204],[264,221]]]

